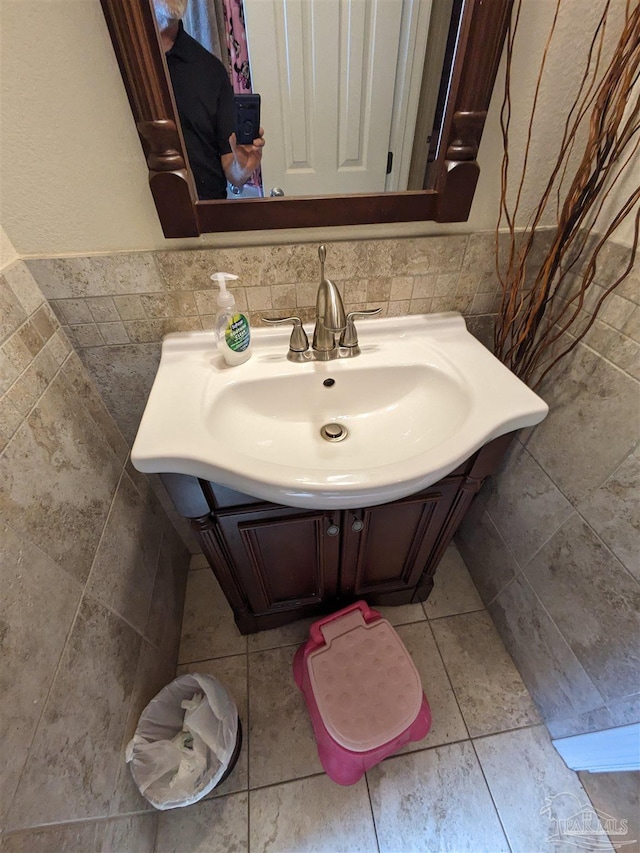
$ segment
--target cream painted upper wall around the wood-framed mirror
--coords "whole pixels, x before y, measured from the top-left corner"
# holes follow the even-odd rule
[[[618,8],[625,0],[615,0]],[[531,95],[555,0],[525,0],[514,100]],[[532,155],[535,198],[570,102],[575,57],[602,0],[566,0],[556,41],[556,78],[540,100],[542,141]],[[2,129],[0,221],[20,256],[452,233],[495,226],[501,142],[499,92],[480,149],[482,168],[469,222],[249,232],[167,241],[157,221],[129,105],[99,0],[0,0]],[[523,111],[512,155],[522,148]],[[526,110],[524,110],[526,113]],[[267,128],[268,144],[268,128]]]

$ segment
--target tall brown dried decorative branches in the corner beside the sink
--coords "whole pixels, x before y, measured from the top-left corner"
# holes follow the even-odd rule
[[[594,225],[604,204],[612,198],[621,178],[635,164],[640,148],[640,3],[627,3],[625,21],[606,68],[603,47],[610,0],[593,34],[585,69],[567,116],[559,151],[540,201],[524,232],[516,219],[527,177],[538,94],[562,0],[557,0],[545,45],[524,151],[516,198],[511,210],[509,185],[509,126],[511,122],[511,72],[514,42],[522,0],[516,3],[507,33],[505,96],[500,115],[504,154],[502,160],[500,217],[496,228],[496,265],[502,299],[495,330],[496,355],[532,387],[537,387],[555,365],[571,352],[593,325],[607,296],[633,268],[640,231],[640,186],[619,203],[603,234]],[[587,128],[588,121],[588,128]],[[586,142],[568,188],[567,174],[581,135]],[[637,159],[637,158],[636,158]],[[640,176],[637,181],[640,184]],[[533,282],[527,277],[534,240],[549,206],[554,203],[556,226],[544,261]],[[587,292],[594,284],[603,247],[622,222],[636,210],[634,237],[627,267],[597,299],[592,313],[584,310]],[[507,226],[506,268],[501,268],[502,222]],[[578,275],[574,274],[578,270]],[[570,277],[569,277],[570,276]],[[572,280],[577,278],[577,284]]]

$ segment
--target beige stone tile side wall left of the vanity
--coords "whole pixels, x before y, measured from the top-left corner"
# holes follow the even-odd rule
[[[16,261],[0,275],[3,849],[153,849],[124,746],[174,677],[189,554],[128,454]]]

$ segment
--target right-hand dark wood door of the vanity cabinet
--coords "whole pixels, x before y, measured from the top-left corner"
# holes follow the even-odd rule
[[[371,604],[379,596],[384,596],[380,604],[410,601],[429,569],[458,489],[458,478],[445,480],[404,500],[346,511],[343,594],[364,596]]]

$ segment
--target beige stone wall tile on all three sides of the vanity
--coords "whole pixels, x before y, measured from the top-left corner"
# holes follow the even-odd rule
[[[327,249],[348,308],[459,310],[490,345],[492,233]],[[611,247],[598,286],[623,262]],[[121,750],[174,673],[186,554],[128,446],[162,336],[211,325],[216,270],[241,276],[253,324],[312,318],[314,244],[18,261],[0,278],[0,684],[15,696],[0,718],[12,756],[0,818],[12,849],[37,849],[45,823],[61,825],[61,844],[76,830],[87,849],[138,833],[150,849],[155,817]],[[520,435],[459,537],[556,736],[640,719],[639,317],[636,271],[542,389],[551,414]]]

